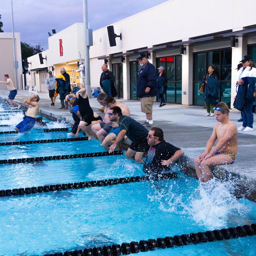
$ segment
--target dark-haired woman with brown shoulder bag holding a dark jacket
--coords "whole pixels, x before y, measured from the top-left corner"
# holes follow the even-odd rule
[[[219,98],[220,81],[216,74],[214,65],[210,65],[208,73],[203,77],[202,83],[204,84],[203,100],[205,101],[206,111],[205,117],[214,117],[215,101]]]

